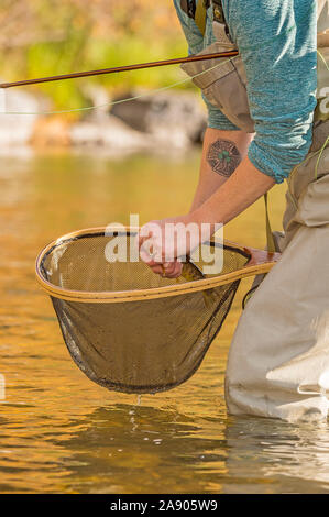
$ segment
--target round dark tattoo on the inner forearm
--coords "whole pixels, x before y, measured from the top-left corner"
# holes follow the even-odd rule
[[[229,177],[240,164],[241,154],[234,142],[219,139],[209,145],[207,162],[215,173]]]

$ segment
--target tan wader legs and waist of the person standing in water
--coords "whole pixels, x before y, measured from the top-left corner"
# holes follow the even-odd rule
[[[234,415],[289,421],[329,409],[329,122],[292,175],[279,263],[248,302],[231,343],[226,400]]]

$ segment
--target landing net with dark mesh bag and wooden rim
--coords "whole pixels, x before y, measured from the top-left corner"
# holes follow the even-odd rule
[[[118,233],[95,229],[57,240],[40,254],[37,277],[70,355],[90,380],[127,393],[171,389],[200,365],[241,277],[255,270],[246,266],[251,254],[224,244],[220,275],[177,283],[141,261],[107,262],[105,249],[113,237]],[[216,241],[206,245],[222,248]],[[273,263],[266,264],[268,271]]]

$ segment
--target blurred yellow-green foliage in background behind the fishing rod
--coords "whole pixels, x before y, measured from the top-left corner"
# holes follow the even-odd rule
[[[1,0],[0,75],[14,80],[165,59],[187,54],[174,6],[152,0]],[[182,78],[177,66],[69,79],[33,87],[54,109],[88,103],[86,86],[110,91],[160,88]]]

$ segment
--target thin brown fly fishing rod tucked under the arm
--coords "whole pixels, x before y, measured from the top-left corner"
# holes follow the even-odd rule
[[[157,66],[178,65],[180,63],[191,63],[198,61],[216,59],[220,57],[238,56],[238,51],[217,52],[213,54],[194,55],[188,57],[176,57],[174,59],[164,59],[151,63],[140,63],[136,65],[116,66],[113,68],[101,68],[99,70],[75,72],[73,74],[62,74],[58,76],[40,77],[36,79],[17,80],[13,82],[1,82],[0,88],[12,88],[14,86],[39,85],[41,82],[51,82],[54,80],[75,79],[77,77],[100,76],[103,74],[116,74],[119,72],[141,70],[143,68],[154,68]]]

